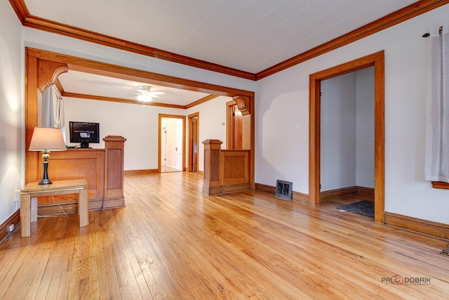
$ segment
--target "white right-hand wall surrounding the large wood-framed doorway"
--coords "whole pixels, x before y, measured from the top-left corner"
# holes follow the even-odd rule
[[[257,81],[256,182],[294,181],[309,193],[309,74],[385,51],[385,211],[449,223],[448,190],[424,181],[429,41],[449,5]]]

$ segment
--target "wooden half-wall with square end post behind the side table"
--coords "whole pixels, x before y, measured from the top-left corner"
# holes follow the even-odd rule
[[[89,210],[125,206],[123,196],[123,150],[126,138],[106,136],[105,149],[68,149],[53,151],[48,159],[48,177],[51,181],[86,179],[88,183]],[[42,157],[39,157],[39,174],[43,174]],[[36,180],[39,178],[36,178]],[[55,196],[54,200],[65,211],[76,211],[76,195]],[[54,214],[60,209],[51,197],[40,197],[39,214]]]

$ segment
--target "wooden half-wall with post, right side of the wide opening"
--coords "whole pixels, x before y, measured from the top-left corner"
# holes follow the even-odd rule
[[[203,193],[218,195],[250,190],[250,150],[221,150],[222,143],[203,141]]]

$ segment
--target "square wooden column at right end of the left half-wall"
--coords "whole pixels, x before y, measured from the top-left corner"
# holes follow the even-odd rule
[[[105,198],[103,209],[124,207],[123,155],[126,138],[106,136],[105,141]]]

